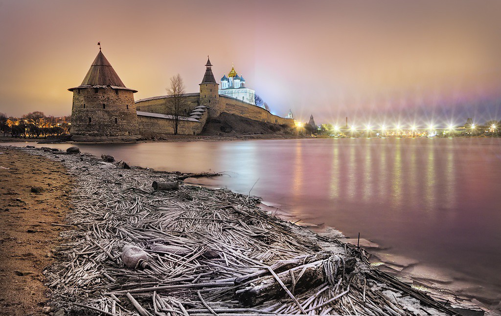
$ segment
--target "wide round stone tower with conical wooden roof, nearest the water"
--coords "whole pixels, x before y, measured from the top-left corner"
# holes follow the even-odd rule
[[[101,48],[73,92],[72,140],[135,140],[139,136],[134,92],[120,80]]]

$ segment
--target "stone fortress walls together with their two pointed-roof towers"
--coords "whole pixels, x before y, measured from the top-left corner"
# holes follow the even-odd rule
[[[219,94],[210,60],[199,92],[186,93],[185,106],[178,117],[178,134],[197,135],[209,117],[221,113],[235,114],[253,120],[294,125],[294,119],[283,118],[242,100]],[[135,140],[157,134],[173,134],[174,121],[169,101],[171,96],[154,96],[134,101],[134,89],[125,87],[109,61],[99,50],[82,83],[73,92],[73,140]]]

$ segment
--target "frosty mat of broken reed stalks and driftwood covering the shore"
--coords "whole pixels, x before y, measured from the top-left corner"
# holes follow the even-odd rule
[[[61,152],[24,150],[60,160]],[[409,295],[426,301],[419,307],[426,313],[438,314],[429,307],[438,306],[431,297],[394,286],[366,263],[350,273],[350,256],[360,249],[274,217],[256,197],[191,185],[154,190],[152,180],[189,176],[103,170],[102,161],[87,155],[68,155],[62,163],[75,179],[73,227],[61,232],[61,261],[45,275],[53,301],[71,304],[70,314],[408,315],[414,310]],[[326,243],[329,251],[321,246]],[[144,249],[150,269],[124,264],[120,254],[129,244]]]

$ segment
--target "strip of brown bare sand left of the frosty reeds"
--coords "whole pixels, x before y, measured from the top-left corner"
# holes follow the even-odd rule
[[[66,224],[71,178],[64,166],[0,146],[0,306],[3,315],[42,315],[50,265]],[[41,187],[40,193],[32,187]]]

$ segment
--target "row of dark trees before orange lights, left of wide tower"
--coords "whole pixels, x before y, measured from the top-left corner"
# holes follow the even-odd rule
[[[70,116],[46,116],[41,111],[23,115],[21,118],[8,117],[0,113],[0,132],[12,137],[47,137],[70,133]]]

